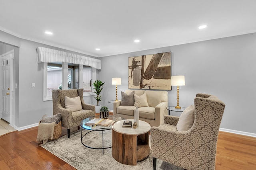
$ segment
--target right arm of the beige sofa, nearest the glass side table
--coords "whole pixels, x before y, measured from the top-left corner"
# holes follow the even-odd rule
[[[164,115],[167,115],[166,107],[168,106],[168,102],[161,102],[155,107],[155,121],[156,126],[164,123]]]

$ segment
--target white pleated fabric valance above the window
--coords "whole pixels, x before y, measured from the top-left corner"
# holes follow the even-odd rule
[[[64,51],[58,51],[54,49],[48,49],[44,47],[37,47],[37,63],[46,62],[65,62],[72,64],[82,64],[91,66],[97,69],[101,69],[101,61],[99,59],[93,59],[90,57],[76,55],[72,53],[66,53]]]

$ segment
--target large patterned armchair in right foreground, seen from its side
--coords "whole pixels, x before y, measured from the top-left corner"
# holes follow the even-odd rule
[[[186,170],[214,170],[220,122],[225,104],[216,96],[196,94],[194,123],[187,131],[178,131],[179,117],[164,116],[164,123],[151,127],[151,154],[156,159]]]

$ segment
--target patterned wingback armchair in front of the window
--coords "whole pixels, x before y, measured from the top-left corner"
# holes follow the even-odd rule
[[[95,116],[95,105],[84,103],[84,89],[70,90],[52,90],[53,115],[61,113],[62,127],[68,129],[68,138],[70,137],[70,128],[80,128],[80,122],[87,117]],[[72,111],[66,109],[65,96],[68,98],[80,97],[81,109]],[[79,103],[79,101],[78,101]]]

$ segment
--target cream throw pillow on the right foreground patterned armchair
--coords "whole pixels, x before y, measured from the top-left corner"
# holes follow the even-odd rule
[[[193,105],[188,106],[180,115],[180,119],[176,125],[178,131],[188,131],[195,118],[195,107]]]

